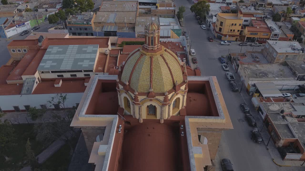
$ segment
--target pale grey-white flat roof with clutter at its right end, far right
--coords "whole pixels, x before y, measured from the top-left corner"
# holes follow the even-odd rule
[[[302,49],[299,42],[291,41],[277,41],[277,40],[267,40],[267,42],[273,47],[278,53],[299,53]]]

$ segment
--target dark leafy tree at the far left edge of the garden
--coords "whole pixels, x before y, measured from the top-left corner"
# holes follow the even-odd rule
[[[10,149],[13,148],[15,144],[15,129],[9,123],[8,120],[0,120],[0,155],[3,155],[5,158],[10,154]]]

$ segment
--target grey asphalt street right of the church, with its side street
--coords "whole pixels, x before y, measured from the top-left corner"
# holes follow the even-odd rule
[[[192,5],[191,0],[176,0],[176,7],[183,5],[186,7],[184,16],[191,13],[189,10]],[[206,24],[206,23],[205,23]],[[242,113],[239,105],[244,103],[242,96],[239,92],[232,92],[229,82],[225,77],[225,71],[222,69],[218,57],[228,54],[230,52],[240,52],[241,47],[237,43],[230,46],[220,45],[214,41],[209,42],[208,36],[214,37],[211,31],[202,30],[195,14],[185,17],[185,30],[189,32],[189,43],[191,48],[195,49],[198,64],[201,68],[202,75],[216,76],[224,97],[229,115],[231,117],[234,129],[224,131],[221,137],[221,142],[218,148],[219,159],[229,158],[234,164],[236,171],[297,171],[304,170],[300,167],[279,167],[274,164],[269,152],[263,143],[256,144],[250,139],[250,131],[252,127],[248,126],[245,121],[245,115]],[[264,47],[254,47],[255,51],[260,51]],[[252,50],[253,47],[242,47],[242,52],[245,50]],[[191,56],[193,57],[193,56]],[[192,64],[194,67],[194,64]],[[232,65],[229,65],[230,72],[234,72]],[[236,81],[241,87],[242,83]],[[244,89],[242,90],[244,91]],[[252,105],[252,104],[248,104]],[[253,107],[251,113],[257,115]],[[257,120],[258,125],[262,124],[262,120]],[[273,143],[273,142],[270,142]],[[217,161],[218,168],[220,167],[220,160]]]

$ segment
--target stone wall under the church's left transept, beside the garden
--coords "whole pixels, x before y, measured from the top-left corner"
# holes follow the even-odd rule
[[[103,134],[105,129],[106,127],[81,127],[89,155],[91,154],[93,143],[96,141],[96,137],[99,134]]]

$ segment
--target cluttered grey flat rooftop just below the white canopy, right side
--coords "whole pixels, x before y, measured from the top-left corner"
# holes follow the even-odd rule
[[[280,113],[282,109],[285,110],[285,112],[293,112],[296,111],[296,109],[293,107],[293,105],[290,102],[264,102],[261,103],[262,106],[266,111],[269,113]]]

